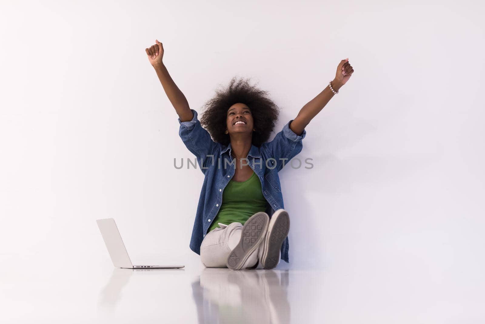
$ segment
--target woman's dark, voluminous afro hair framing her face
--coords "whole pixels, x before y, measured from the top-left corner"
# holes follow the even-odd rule
[[[267,97],[268,92],[249,84],[249,79],[232,78],[228,87],[216,90],[216,95],[207,101],[200,124],[207,129],[214,142],[229,145],[231,139],[226,131],[226,116],[229,107],[243,103],[249,107],[254,119],[252,144],[260,147],[275,128],[279,108]]]

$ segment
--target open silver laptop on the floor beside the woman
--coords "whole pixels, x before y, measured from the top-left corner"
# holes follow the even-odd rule
[[[125,243],[121,239],[118,227],[113,218],[97,219],[97,227],[101,231],[104,243],[108,248],[113,265],[116,268],[125,269],[174,269],[183,268],[184,265],[133,265],[129,259],[128,252],[125,248]]]

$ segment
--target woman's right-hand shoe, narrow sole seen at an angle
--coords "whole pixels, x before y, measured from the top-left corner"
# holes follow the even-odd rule
[[[288,212],[282,211],[276,215],[273,214],[266,235],[266,248],[261,256],[264,269],[273,269],[278,264],[279,251],[289,231],[290,215],[288,215]]]

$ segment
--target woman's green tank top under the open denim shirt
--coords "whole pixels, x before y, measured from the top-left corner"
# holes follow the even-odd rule
[[[207,232],[219,227],[217,223],[229,225],[239,222],[244,225],[249,217],[258,211],[265,211],[266,204],[256,173],[253,172],[251,178],[242,182],[231,179],[222,193],[221,208]]]

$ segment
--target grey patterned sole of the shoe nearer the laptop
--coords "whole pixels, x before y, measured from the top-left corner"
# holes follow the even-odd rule
[[[268,230],[269,217],[265,212],[257,212],[244,223],[242,227],[241,239],[227,257],[227,268],[241,270],[251,253],[256,250],[263,241],[264,235]]]

